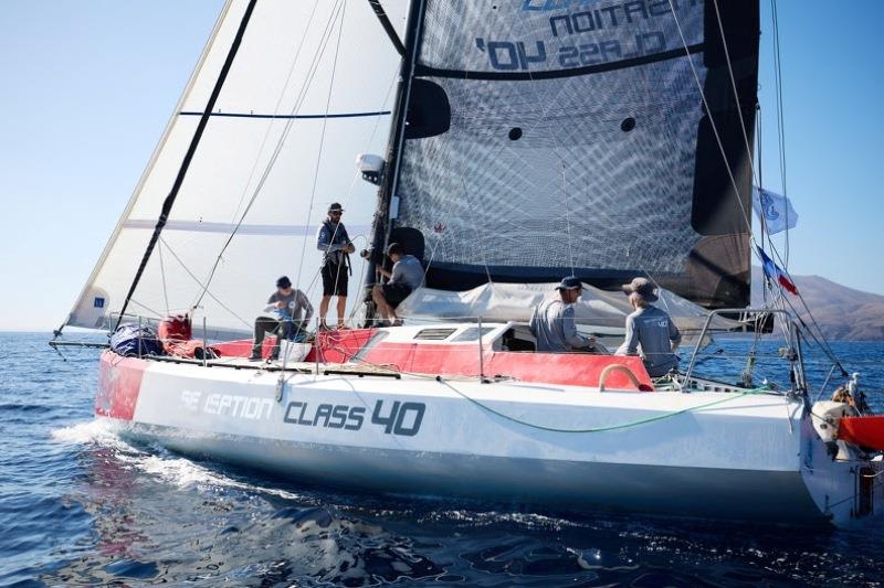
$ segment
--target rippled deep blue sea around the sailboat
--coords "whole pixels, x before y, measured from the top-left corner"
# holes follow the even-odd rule
[[[98,351],[62,357],[50,339],[0,333],[0,586],[884,584],[882,518],[809,530],[367,496],[131,445],[93,419]],[[751,346],[714,343],[698,368],[739,373]],[[829,364],[811,346],[819,391]],[[884,343],[829,351],[884,409]]]

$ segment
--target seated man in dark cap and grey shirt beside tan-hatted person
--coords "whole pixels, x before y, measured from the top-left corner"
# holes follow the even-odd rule
[[[544,300],[532,312],[528,327],[537,339],[537,351],[564,353],[568,351],[592,351],[596,338],[577,332],[573,321],[573,303],[583,293],[583,285],[573,276],[564,278],[556,286],[558,300]]]

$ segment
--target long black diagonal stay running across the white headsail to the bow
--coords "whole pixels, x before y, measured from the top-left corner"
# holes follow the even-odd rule
[[[240,44],[242,43],[242,38],[245,35],[245,29],[249,25],[249,20],[252,17],[252,12],[254,11],[255,3],[257,0],[250,0],[249,6],[245,8],[245,12],[240,21],[240,26],[236,30],[236,36],[233,39],[233,43],[230,46],[230,51],[228,51],[227,60],[224,61],[223,67],[221,67],[221,73],[218,75],[218,81],[214,84],[214,88],[212,89],[212,94],[209,97],[209,101],[206,104],[206,109],[200,117],[200,122],[197,126],[197,130],[193,133],[193,138],[190,141],[190,147],[185,154],[185,159],[181,161],[181,167],[178,170],[178,175],[175,179],[175,183],[172,184],[172,189],[169,192],[169,195],[166,196],[166,200],[162,203],[162,210],[160,211],[159,218],[157,220],[157,225],[154,228],[154,234],[150,237],[150,242],[147,244],[147,250],[145,250],[144,256],[141,257],[141,263],[138,266],[138,271],[135,274],[135,278],[133,279],[131,286],[129,287],[129,291],[126,295],[126,300],[123,302],[123,308],[119,311],[119,317],[117,318],[117,322],[114,325],[114,330],[119,327],[119,323],[123,322],[123,317],[126,314],[126,308],[129,306],[129,300],[131,300],[133,295],[135,293],[135,289],[138,287],[138,281],[141,279],[141,275],[147,267],[147,263],[150,260],[150,255],[154,253],[154,247],[157,245],[157,240],[159,240],[159,235],[162,232],[162,228],[166,226],[166,221],[169,218],[169,214],[171,213],[172,205],[175,204],[175,199],[178,197],[178,192],[181,189],[181,184],[185,181],[185,177],[187,175],[187,171],[190,168],[190,162],[193,159],[193,154],[197,152],[197,147],[200,145],[200,139],[202,139],[202,133],[206,130],[206,126],[209,124],[209,118],[211,117],[212,110],[214,110],[215,101],[218,101],[218,97],[221,94],[221,88],[224,86],[224,81],[228,77],[228,73],[230,72],[231,66],[233,65],[233,58],[236,56],[236,52],[240,49]]]

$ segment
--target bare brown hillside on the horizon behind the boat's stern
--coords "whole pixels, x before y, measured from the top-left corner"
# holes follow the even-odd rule
[[[792,276],[823,333],[832,340],[884,341],[884,296],[846,288],[820,276]],[[753,267],[753,304],[761,302],[761,268]],[[786,296],[796,309],[801,301]]]

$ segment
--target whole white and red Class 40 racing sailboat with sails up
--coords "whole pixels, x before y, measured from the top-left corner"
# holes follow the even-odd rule
[[[578,322],[601,350],[630,311],[612,287],[634,276],[697,349],[767,322],[733,312],[755,250],[758,34],[751,2],[230,0],[66,320],[187,314],[202,353],[104,351],[96,417],[354,491],[797,524],[884,512],[882,448],[836,437],[843,403],[813,404],[787,310],[760,314],[787,341],[780,387],[704,377],[696,355],[651,378],[638,356],[533,351],[527,313],[562,276],[585,282]],[[362,239],[358,325],[250,362],[277,276],[317,296],[333,201]],[[391,242],[425,269],[401,327],[362,303]]]

